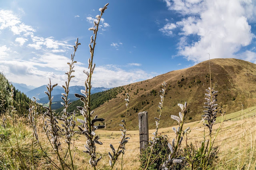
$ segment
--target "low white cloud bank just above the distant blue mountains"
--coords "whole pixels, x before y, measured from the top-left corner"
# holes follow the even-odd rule
[[[0,60],[0,70],[4,70],[4,74],[10,81],[15,80],[27,85],[41,86],[48,83],[48,78],[54,83],[64,85],[67,78],[65,74],[68,70],[67,62],[70,62],[68,57],[45,53],[29,61],[20,59],[15,61]],[[84,69],[88,70],[82,63],[75,64],[75,77],[70,85],[84,85]],[[117,87],[152,77],[153,73],[146,73],[141,69],[126,71],[117,65],[96,65],[92,85],[93,87]]]

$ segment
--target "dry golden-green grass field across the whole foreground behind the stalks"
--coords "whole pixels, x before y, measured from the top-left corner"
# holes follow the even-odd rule
[[[214,169],[255,169],[256,159],[255,159],[255,140],[256,140],[256,107],[250,107],[243,111],[231,113],[224,116],[224,123],[221,125],[221,130],[215,139],[214,146],[219,146],[218,163]],[[220,118],[218,117],[216,125],[214,125],[214,131],[220,126]],[[48,169],[50,164],[43,158],[44,153],[40,150],[35,139],[33,139],[31,127],[24,123],[24,119],[15,119],[15,130],[17,133],[17,139],[19,142],[19,148],[22,150],[22,158],[26,159],[26,164],[30,169]],[[1,122],[2,124],[2,122]],[[242,126],[241,126],[242,125]],[[8,117],[6,130],[3,127],[0,128],[0,168],[1,169],[14,169],[20,167],[19,159],[14,156],[17,153],[18,146],[16,144],[16,137],[14,135],[14,128],[12,127],[12,121]],[[39,125],[40,127],[40,125]],[[41,126],[42,127],[42,126]],[[203,140],[203,130],[202,122],[192,122],[184,124],[184,128],[190,127],[191,132],[188,135],[186,141],[189,144],[192,142],[197,146],[201,145]],[[44,150],[51,156],[51,158],[56,160],[53,151],[50,149],[47,138],[42,129],[40,130],[39,136],[41,139],[41,144]],[[149,130],[150,137],[155,130]],[[161,135],[167,135],[170,140],[174,138],[175,134],[172,131],[172,127],[160,128],[158,132]],[[96,133],[100,136],[100,141],[102,145],[97,145],[98,154],[102,155],[102,160],[97,166],[98,169],[109,169],[109,157],[108,152],[110,150],[110,143],[116,148],[118,147],[120,141],[120,131],[110,131],[110,130],[98,130]],[[207,129],[206,129],[207,134]],[[126,170],[136,170],[140,166],[138,160],[138,155],[140,154],[140,143],[139,143],[139,132],[138,130],[128,131],[128,136],[130,137],[129,142],[126,144],[126,151],[124,154],[124,169]],[[74,141],[75,154],[74,154],[74,164],[75,168],[79,170],[90,169],[88,164],[88,155],[83,153],[84,144],[86,142],[84,136],[76,136],[78,140]],[[207,136],[206,136],[207,139]],[[33,141],[32,141],[33,140]],[[35,156],[34,165],[31,159],[31,150],[33,145],[33,154]],[[62,142],[62,154],[64,155],[65,145]],[[183,145],[185,142],[183,142]],[[63,156],[62,155],[62,156]],[[16,167],[10,166],[11,162],[16,164]],[[58,162],[56,160],[56,162]],[[116,166],[120,169],[120,160],[118,160]]]

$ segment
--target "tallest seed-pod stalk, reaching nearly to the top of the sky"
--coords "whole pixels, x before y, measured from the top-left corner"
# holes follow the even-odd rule
[[[104,125],[99,125],[96,126],[94,125],[96,122],[102,122],[104,119],[98,118],[98,115],[92,119],[92,114],[94,111],[91,110],[91,80],[92,80],[92,74],[95,68],[95,63],[93,64],[93,56],[94,56],[94,48],[96,45],[96,37],[97,37],[97,32],[100,24],[100,18],[102,17],[102,14],[104,11],[107,9],[108,4],[106,4],[103,8],[100,8],[100,15],[96,16],[97,22],[94,22],[94,27],[89,28],[89,30],[93,31],[94,38],[93,36],[90,38],[90,54],[91,57],[88,59],[88,69],[89,72],[84,70],[84,73],[87,76],[86,81],[84,82],[85,85],[85,90],[81,90],[81,93],[83,95],[75,94],[76,97],[78,97],[83,103],[84,107],[77,107],[80,110],[80,113],[83,115],[84,120],[77,119],[78,122],[82,123],[81,126],[78,126],[79,130],[84,134],[86,138],[86,144],[84,147],[86,150],[83,152],[87,153],[90,155],[90,160],[89,163],[90,165],[96,170],[96,166],[98,164],[98,161],[102,158],[100,156],[99,158],[96,158],[96,146],[95,144],[102,144],[102,142],[98,141],[99,136],[96,136],[95,130],[99,128],[104,128]],[[91,45],[93,43],[93,45]]]

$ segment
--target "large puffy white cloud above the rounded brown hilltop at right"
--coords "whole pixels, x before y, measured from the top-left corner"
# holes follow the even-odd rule
[[[176,27],[180,29],[179,35],[182,36],[178,43],[178,55],[185,56],[195,63],[207,60],[207,53],[210,53],[211,58],[241,58],[243,52],[240,51],[244,51],[243,47],[251,44],[256,37],[248,23],[256,18],[256,3],[250,0],[165,2],[169,10],[174,10],[182,16],[182,19],[176,22]],[[247,61],[256,59],[253,52],[246,51],[243,54],[245,56],[242,59]]]

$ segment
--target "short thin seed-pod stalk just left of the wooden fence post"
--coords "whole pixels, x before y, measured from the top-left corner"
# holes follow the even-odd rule
[[[121,153],[122,153],[121,169],[123,169],[123,155],[124,155],[124,150],[125,150],[125,144],[128,142],[128,139],[130,139],[129,137],[126,137],[126,132],[127,132],[126,121],[127,121],[130,96],[128,95],[128,93],[126,95],[127,95],[127,98],[125,99],[125,101],[126,101],[126,116],[125,116],[125,120],[122,120],[122,124],[120,124],[120,127],[122,127],[122,129],[120,129],[120,131],[122,131],[121,141],[120,141],[120,144],[119,144],[117,150],[115,150],[114,146],[112,144],[110,144],[110,148],[113,152],[113,155],[110,152],[108,152],[108,156],[110,157],[109,164],[111,166],[111,170],[114,168],[116,160]]]

